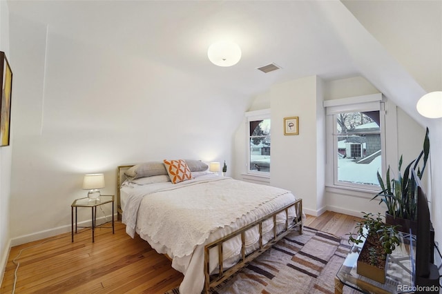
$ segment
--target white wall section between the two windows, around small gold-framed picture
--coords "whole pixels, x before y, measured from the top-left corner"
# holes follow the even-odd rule
[[[305,77],[271,88],[271,178],[270,184],[291,190],[302,198],[302,208],[311,215],[320,215],[323,203],[324,170],[323,97],[318,97],[318,77]],[[284,135],[284,117],[299,118],[299,135]],[[322,166],[322,168],[321,168]]]

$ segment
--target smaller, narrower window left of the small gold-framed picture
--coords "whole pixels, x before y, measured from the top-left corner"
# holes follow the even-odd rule
[[[270,173],[270,112],[257,110],[247,117],[247,173]]]

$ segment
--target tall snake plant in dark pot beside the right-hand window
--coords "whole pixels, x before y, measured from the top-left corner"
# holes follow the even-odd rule
[[[417,204],[416,204],[416,182],[412,169],[416,171],[417,177],[422,179],[423,172],[427,166],[427,160],[430,155],[430,138],[429,130],[425,131],[425,139],[423,140],[423,149],[419,156],[410,162],[405,168],[403,175],[401,167],[403,157],[399,159],[398,177],[391,179],[390,166],[387,169],[385,181],[379,172],[377,173],[378,182],[381,186],[381,192],[374,195],[373,199],[381,197],[381,203],[385,203],[387,211],[385,212],[385,222],[387,224],[399,224],[399,231],[416,235],[417,223]],[[422,164],[422,166],[420,166]]]

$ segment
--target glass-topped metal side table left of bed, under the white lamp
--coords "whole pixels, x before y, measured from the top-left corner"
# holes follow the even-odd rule
[[[114,195],[101,195],[99,199],[89,199],[88,197],[75,199],[74,202],[70,205],[71,208],[71,235],[72,235],[72,242],[74,242],[74,208],[75,208],[75,234],[77,234],[77,228],[92,228],[92,242],[95,242],[95,226],[96,226],[96,218],[97,218],[97,206],[111,203],[112,204],[112,226],[100,226],[100,228],[112,228],[112,233],[115,234],[115,223],[114,223],[114,216],[113,216],[113,202],[114,202]],[[92,225],[89,226],[77,226],[77,208],[79,207],[89,207],[92,210]]]

